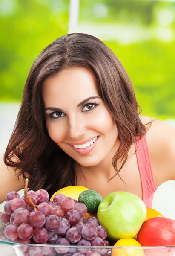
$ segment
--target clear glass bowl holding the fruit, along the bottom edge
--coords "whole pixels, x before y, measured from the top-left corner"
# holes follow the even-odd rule
[[[83,250],[83,251],[82,251]],[[89,252],[93,252],[92,254]],[[98,253],[95,253],[98,252]],[[76,254],[75,254],[76,253]],[[77,254],[78,253],[78,254]],[[100,254],[99,254],[100,253]],[[0,256],[175,256],[175,247],[20,244],[7,239],[0,221]]]

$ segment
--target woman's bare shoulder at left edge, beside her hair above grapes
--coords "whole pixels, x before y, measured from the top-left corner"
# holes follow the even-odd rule
[[[0,203],[5,201],[6,194],[12,190],[19,191],[24,188],[24,179],[18,179],[14,169],[5,165],[3,155],[0,156]]]

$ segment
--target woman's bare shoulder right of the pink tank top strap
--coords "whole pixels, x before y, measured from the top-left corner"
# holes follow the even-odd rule
[[[146,124],[146,140],[157,186],[175,180],[175,127],[159,119],[141,117]],[[146,123],[145,123],[146,122]]]

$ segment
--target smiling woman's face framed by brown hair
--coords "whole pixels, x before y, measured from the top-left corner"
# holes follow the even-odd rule
[[[81,166],[96,166],[114,150],[118,131],[85,67],[63,70],[42,88],[51,139]]]

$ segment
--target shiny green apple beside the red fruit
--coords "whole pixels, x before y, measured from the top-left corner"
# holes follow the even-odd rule
[[[97,217],[110,239],[134,238],[146,219],[146,205],[132,193],[112,192],[99,204]]]

